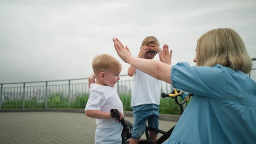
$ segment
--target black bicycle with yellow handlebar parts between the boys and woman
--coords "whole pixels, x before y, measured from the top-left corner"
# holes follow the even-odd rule
[[[173,99],[175,99],[175,102],[179,105],[180,109],[181,109],[181,115],[184,111],[184,105],[187,104],[188,100],[191,99],[191,97],[193,97],[193,94],[191,93],[183,93],[177,89],[174,89],[172,93],[162,93],[161,94],[161,97],[162,98],[166,98],[166,97],[171,97]],[[178,98],[178,97],[181,97],[181,98]],[[182,101],[179,101],[179,99],[181,99]],[[110,110],[110,115],[116,119],[119,119],[119,112],[117,109],[112,109]],[[119,120],[119,122],[121,122],[121,124],[123,125],[123,131],[122,131],[122,143],[129,143],[129,141],[127,141],[128,139],[131,138],[131,129],[132,129],[132,123],[127,121],[126,119],[121,119]],[[163,143],[164,141],[166,141],[172,134],[172,131],[174,129],[175,125],[168,131],[163,131],[163,130],[160,130],[160,129],[155,129],[155,128],[151,128],[151,127],[147,127],[146,126],[146,131],[145,131],[145,134],[146,134],[146,140],[139,140],[139,144],[160,144],[160,143]],[[155,142],[151,141],[149,139],[149,133],[148,131],[151,130],[151,131],[155,131],[157,133],[160,133],[162,134],[161,137],[159,137],[158,140],[156,140]]]

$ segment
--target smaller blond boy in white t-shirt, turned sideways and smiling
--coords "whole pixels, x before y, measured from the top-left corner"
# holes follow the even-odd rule
[[[92,61],[96,83],[90,85],[90,97],[85,106],[85,115],[96,119],[95,143],[121,143],[123,127],[110,116],[111,109],[118,109],[123,119],[123,103],[115,83],[120,79],[121,63],[113,56],[103,54]]]

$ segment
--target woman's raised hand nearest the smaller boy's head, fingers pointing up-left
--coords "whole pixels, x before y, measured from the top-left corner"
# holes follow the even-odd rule
[[[117,51],[118,56],[123,59],[124,62],[128,63],[128,58],[132,57],[131,52],[127,46],[124,45],[119,41],[118,38],[113,38],[115,51]]]

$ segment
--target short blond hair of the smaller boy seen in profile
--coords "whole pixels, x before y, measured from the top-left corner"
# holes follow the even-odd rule
[[[121,63],[116,58],[108,54],[102,54],[94,57],[91,65],[96,77],[102,71],[112,70],[114,72],[119,72],[122,69]]]

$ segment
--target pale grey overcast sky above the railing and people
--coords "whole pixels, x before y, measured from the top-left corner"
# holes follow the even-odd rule
[[[256,1],[0,1],[0,83],[77,79],[96,55],[118,58],[112,37],[137,56],[150,35],[193,63],[197,39],[232,28],[256,58]],[[157,56],[155,59],[159,59]],[[121,74],[127,74],[124,63]],[[254,64],[255,67],[255,64]]]

